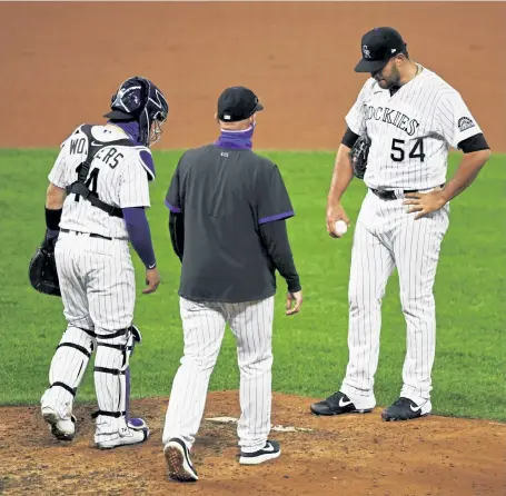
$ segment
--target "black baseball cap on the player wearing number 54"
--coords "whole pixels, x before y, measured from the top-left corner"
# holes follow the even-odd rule
[[[361,60],[355,72],[381,70],[393,57],[406,50],[403,37],[394,28],[375,28],[361,37]]]

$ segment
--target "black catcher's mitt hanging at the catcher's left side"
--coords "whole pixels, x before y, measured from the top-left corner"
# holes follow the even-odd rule
[[[54,261],[54,245],[58,238],[46,239],[30,260],[28,277],[30,284],[44,295],[61,296]]]

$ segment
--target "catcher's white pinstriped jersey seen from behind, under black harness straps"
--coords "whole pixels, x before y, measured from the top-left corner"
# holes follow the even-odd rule
[[[127,138],[120,129],[111,126],[93,126],[91,135],[103,142]],[[76,169],[86,159],[87,151],[88,138],[79,127],[61,145],[49,180],[60,188],[76,181]],[[100,200],[115,207],[150,207],[148,175],[153,178],[153,173],[146,167],[141,153],[151,152],[142,146],[102,148],[91,162],[88,187]],[[75,194],[65,200],[60,228],[128,239],[123,219],[109,216]]]

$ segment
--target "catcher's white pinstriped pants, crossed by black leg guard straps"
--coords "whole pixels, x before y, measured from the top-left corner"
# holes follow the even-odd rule
[[[128,334],[112,339],[108,335],[132,324],[135,272],[127,240],[60,232],[54,257],[68,327],[52,358],[49,381],[51,385],[63,383],[68,388],[77,390],[96,344],[99,345],[96,367],[119,369],[123,364],[121,351],[100,345],[127,345]],[[81,329],[96,333],[97,339]],[[77,345],[88,354],[85,355],[68,344]],[[95,371],[97,400],[101,410],[128,408],[126,380],[125,376]],[[67,388],[54,386],[46,390],[41,403],[42,406],[56,409],[62,418],[70,418],[73,395]],[[97,433],[102,436],[102,440],[107,440],[106,437],[115,436],[122,424],[123,419],[99,416]]]

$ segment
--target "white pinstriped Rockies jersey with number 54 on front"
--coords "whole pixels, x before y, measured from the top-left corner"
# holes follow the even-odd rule
[[[449,147],[482,132],[460,95],[425,68],[393,96],[368,79],[346,122],[371,139],[364,177],[369,188],[439,186]]]

